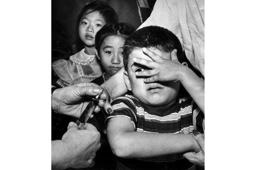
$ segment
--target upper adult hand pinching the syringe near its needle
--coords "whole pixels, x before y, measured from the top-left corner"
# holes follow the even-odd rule
[[[100,89],[101,87],[94,83],[79,83],[56,89],[52,94],[52,109],[59,114],[66,114],[78,118],[90,99],[95,97]],[[98,113],[100,107],[103,106],[105,110],[112,108],[107,99],[109,99],[109,94],[104,90],[98,106],[94,109],[94,113]]]

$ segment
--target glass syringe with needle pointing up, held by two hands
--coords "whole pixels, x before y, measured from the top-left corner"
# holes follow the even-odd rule
[[[80,115],[79,119],[76,121],[76,124],[77,124],[79,130],[84,128],[84,125],[86,124],[88,119],[91,117],[93,110],[99,103],[99,99],[101,97],[103,90],[104,90],[104,87],[100,90],[98,95],[96,95],[94,98],[91,99],[89,104],[84,109],[83,113]]]

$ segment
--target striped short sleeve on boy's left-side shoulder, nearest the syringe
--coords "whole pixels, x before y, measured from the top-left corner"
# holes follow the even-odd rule
[[[128,96],[128,95],[126,95]],[[112,103],[113,107],[113,113],[108,115],[105,123],[110,119],[114,117],[128,117],[131,119],[134,129],[136,129],[136,122],[137,122],[137,109],[133,102],[133,100],[130,97],[118,97],[116,98]]]

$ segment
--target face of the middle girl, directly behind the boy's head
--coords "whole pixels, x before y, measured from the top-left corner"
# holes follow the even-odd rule
[[[123,67],[124,42],[125,39],[119,36],[108,36],[102,42],[98,55],[107,77],[113,76]]]

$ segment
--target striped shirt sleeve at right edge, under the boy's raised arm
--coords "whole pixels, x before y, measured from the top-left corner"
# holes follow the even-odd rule
[[[193,112],[193,124],[194,129],[199,131],[200,133],[204,133],[204,114],[197,106],[194,100],[191,102],[191,108]]]

